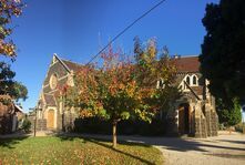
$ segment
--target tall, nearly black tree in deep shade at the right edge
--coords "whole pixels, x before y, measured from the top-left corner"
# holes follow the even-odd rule
[[[228,109],[245,97],[245,1],[221,0],[206,6],[206,35],[200,55],[201,72],[210,90]]]

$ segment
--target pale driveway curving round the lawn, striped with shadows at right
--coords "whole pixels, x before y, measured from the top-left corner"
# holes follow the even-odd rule
[[[165,165],[245,165],[245,135],[242,134],[226,133],[208,138],[119,136],[119,140],[157,147],[163,153]]]

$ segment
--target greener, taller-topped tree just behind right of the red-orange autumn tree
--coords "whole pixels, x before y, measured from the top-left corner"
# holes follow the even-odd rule
[[[182,93],[175,86],[176,68],[170,58],[169,50],[163,47],[156,49],[155,39],[150,39],[146,45],[140,38],[134,38],[134,54],[136,63],[136,79],[141,89],[151,89],[145,102],[157,112],[167,113],[171,104],[181,97]]]

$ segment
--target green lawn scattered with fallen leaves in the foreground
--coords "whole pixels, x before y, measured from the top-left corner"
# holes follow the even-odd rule
[[[0,140],[0,164],[163,164],[162,153],[147,145],[78,137]]]

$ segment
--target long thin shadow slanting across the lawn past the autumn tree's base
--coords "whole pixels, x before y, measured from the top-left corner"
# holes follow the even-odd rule
[[[109,149],[112,149],[113,152],[116,152],[119,154],[123,154],[125,156],[129,156],[129,157],[132,157],[134,159],[137,159],[142,163],[145,163],[145,164],[149,164],[149,165],[153,165],[154,163],[147,161],[147,159],[144,159],[142,157],[139,157],[139,156],[135,156],[135,155],[132,155],[130,153],[126,153],[126,152],[123,152],[123,151],[120,151],[118,148],[114,148],[112,147],[112,145],[110,144],[106,144],[106,143],[111,143],[111,141],[109,140],[104,140],[104,138],[96,138],[96,137],[83,137],[83,136],[64,136],[64,135],[57,135],[57,137],[59,137],[61,141],[74,141],[74,138],[83,138],[84,142],[83,143],[86,143],[86,142],[90,142],[90,143],[94,143],[96,145],[100,145],[100,146],[103,146],[103,147],[106,147]],[[125,141],[119,141],[118,144],[123,144],[123,145],[127,145],[127,146],[144,146],[144,147],[151,147],[146,144],[140,144],[140,143],[129,143],[129,142],[125,142]]]

